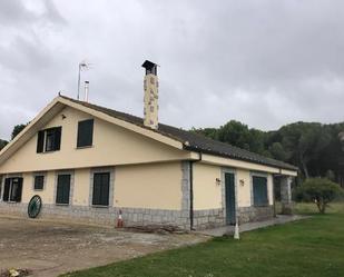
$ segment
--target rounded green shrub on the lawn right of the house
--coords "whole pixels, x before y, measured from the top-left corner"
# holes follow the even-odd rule
[[[321,214],[325,214],[328,202],[344,195],[340,185],[326,178],[306,179],[296,190],[296,198],[315,202]]]

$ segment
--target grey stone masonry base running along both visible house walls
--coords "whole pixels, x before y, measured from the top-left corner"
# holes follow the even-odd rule
[[[0,214],[28,217],[27,207],[27,204],[0,202]],[[118,219],[119,210],[122,212],[125,226],[173,225],[183,229],[190,228],[189,212],[180,210],[59,206],[55,204],[45,204],[39,217],[115,226]],[[239,224],[259,221],[272,218],[273,216],[273,206],[238,208]],[[224,209],[222,208],[194,211],[194,228],[196,230],[215,228],[225,225],[226,219]]]

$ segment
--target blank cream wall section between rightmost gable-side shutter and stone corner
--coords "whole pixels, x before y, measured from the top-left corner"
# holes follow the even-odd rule
[[[118,207],[181,208],[181,164],[120,166],[115,169],[115,199]]]

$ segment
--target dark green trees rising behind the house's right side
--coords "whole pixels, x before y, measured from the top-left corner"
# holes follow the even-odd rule
[[[344,185],[344,122],[295,122],[275,131],[230,120],[219,128],[193,131],[299,168],[301,178],[326,177]]]

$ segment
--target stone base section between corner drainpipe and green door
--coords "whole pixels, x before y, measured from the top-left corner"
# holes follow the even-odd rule
[[[224,209],[205,209],[194,211],[194,228],[196,230],[225,226]]]

